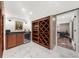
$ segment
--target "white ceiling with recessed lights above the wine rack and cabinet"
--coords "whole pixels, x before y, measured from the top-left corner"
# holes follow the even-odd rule
[[[55,15],[79,8],[79,1],[5,1],[6,15],[35,20],[43,16]],[[25,9],[22,11],[22,9]],[[32,12],[32,15],[29,13]]]

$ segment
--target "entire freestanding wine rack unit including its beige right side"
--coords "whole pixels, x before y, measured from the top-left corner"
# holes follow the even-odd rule
[[[56,45],[56,20],[47,16],[32,21],[32,41],[48,49]]]

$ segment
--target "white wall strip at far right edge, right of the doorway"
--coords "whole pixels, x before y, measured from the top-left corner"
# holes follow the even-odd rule
[[[76,25],[74,26],[75,27],[75,34],[74,34],[74,38],[76,38],[76,51],[79,53],[79,10],[77,10],[76,12],[75,12],[75,16],[76,16],[76,18],[75,18],[75,23],[76,23]]]

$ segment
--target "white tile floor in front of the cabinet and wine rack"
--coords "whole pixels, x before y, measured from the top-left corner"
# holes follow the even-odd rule
[[[34,42],[23,44],[3,53],[3,58],[77,58],[78,55],[72,50],[55,47],[48,50]]]

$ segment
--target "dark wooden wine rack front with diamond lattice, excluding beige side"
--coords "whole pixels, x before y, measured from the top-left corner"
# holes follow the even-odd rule
[[[32,21],[32,40],[50,48],[50,16]]]

